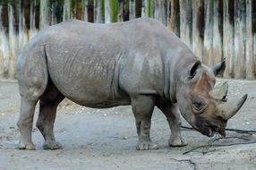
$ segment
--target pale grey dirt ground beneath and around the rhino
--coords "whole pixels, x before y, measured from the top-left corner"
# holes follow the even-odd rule
[[[249,98],[227,128],[256,131],[256,81],[228,81],[229,94]],[[256,133],[227,131],[226,139],[208,138],[183,129],[188,145],[170,148],[166,118],[158,109],[152,117],[151,138],[158,150],[135,149],[137,136],[131,106],[91,109],[64,101],[55,120],[55,138],[64,149],[43,150],[34,125],[37,150],[16,149],[20,97],[15,81],[0,81],[0,170],[4,169],[256,169]],[[38,108],[35,121],[38,116]],[[185,121],[183,125],[188,126]],[[226,146],[228,145],[228,146]]]

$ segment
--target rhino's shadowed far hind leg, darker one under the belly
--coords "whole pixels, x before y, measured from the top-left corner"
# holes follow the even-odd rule
[[[45,93],[39,98],[39,115],[37,127],[42,133],[45,142],[44,149],[63,149],[62,145],[55,141],[54,123],[58,104],[64,96],[50,81]]]

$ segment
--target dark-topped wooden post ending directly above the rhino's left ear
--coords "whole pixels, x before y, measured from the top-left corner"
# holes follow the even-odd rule
[[[204,32],[204,1],[196,0],[192,4],[192,50],[202,60]]]

